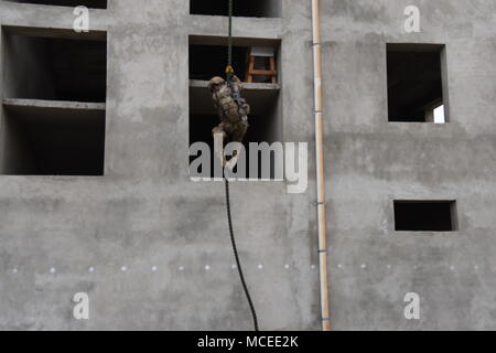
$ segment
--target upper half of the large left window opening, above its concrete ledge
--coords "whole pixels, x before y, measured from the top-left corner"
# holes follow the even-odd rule
[[[19,34],[6,29],[4,96],[8,98],[106,101],[107,43],[57,38],[47,30]],[[62,34],[61,36],[65,35]]]

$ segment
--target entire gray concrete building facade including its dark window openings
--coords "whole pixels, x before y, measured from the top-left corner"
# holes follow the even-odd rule
[[[250,330],[224,185],[188,170],[215,124],[205,81],[225,66],[224,9],[86,1],[90,31],[76,33],[84,2],[0,1],[0,329]],[[250,46],[278,62],[277,84],[246,85],[247,139],[309,142],[306,192],[231,184],[262,330],[321,328],[311,10],[255,1],[234,21],[239,71]],[[321,1],[333,329],[496,329],[495,13],[490,0]],[[429,122],[433,105],[445,124]],[[89,320],[73,315],[77,292]]]

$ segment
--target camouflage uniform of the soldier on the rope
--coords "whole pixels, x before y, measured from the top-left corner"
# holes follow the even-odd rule
[[[220,124],[212,130],[212,133],[214,136],[222,133],[224,139],[229,137],[230,141],[242,142],[248,130],[250,106],[239,96],[239,92],[242,88],[239,78],[233,76],[231,83],[235,96],[239,97],[237,99],[233,98],[231,88],[222,77],[214,77],[208,84],[214,105],[220,118]]]

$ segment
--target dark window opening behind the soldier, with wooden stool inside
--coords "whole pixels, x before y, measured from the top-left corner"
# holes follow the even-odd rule
[[[218,39],[217,39],[218,40]],[[219,45],[217,40],[190,39],[190,146],[195,142],[205,142],[211,151],[211,178],[214,176],[214,140],[212,129],[220,121],[214,108],[212,94],[207,88],[208,81],[214,76],[224,76],[227,50]],[[276,57],[279,53],[279,42],[250,43],[235,41],[233,53],[236,74],[244,82],[241,96],[250,105],[251,114],[248,117],[249,128],[244,140],[246,150],[246,172],[250,176],[249,143],[250,142],[282,142],[282,109],[280,101],[280,86],[270,79],[254,79],[246,83],[247,61],[249,49],[254,45],[272,46]],[[278,60],[278,58],[277,58]],[[278,65],[279,66],[279,65]],[[197,157],[191,156],[190,163]],[[236,170],[235,170],[236,171]],[[196,171],[195,173],[201,172]],[[254,176],[254,175],[251,175]],[[262,174],[260,161],[258,173],[252,179],[274,180],[274,158],[271,158],[270,175]]]

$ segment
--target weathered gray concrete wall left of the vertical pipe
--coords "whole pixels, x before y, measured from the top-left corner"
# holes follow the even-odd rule
[[[312,141],[310,7],[284,2],[283,19],[242,18],[234,33],[282,40],[283,135]],[[2,25],[73,19],[0,1]],[[250,330],[224,185],[194,183],[187,169],[188,35],[225,35],[227,19],[190,17],[184,0],[110,0],[90,25],[108,32],[105,176],[0,176],[0,329]],[[231,197],[261,329],[319,329],[313,186],[233,183]],[[88,321],[72,315],[78,291]]]

